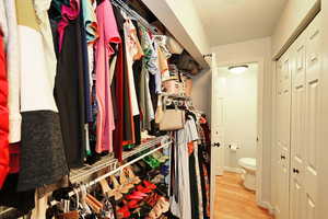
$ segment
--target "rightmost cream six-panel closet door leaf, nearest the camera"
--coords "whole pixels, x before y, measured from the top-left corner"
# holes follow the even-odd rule
[[[320,14],[309,24],[306,48],[305,218],[316,218],[320,129]]]

